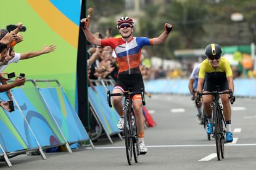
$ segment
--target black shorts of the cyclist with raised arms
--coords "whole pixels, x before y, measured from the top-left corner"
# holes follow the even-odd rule
[[[117,83],[115,83],[114,88],[120,88],[124,91],[127,91],[128,88],[132,88],[134,92],[141,91],[144,83],[141,74],[119,74]]]

